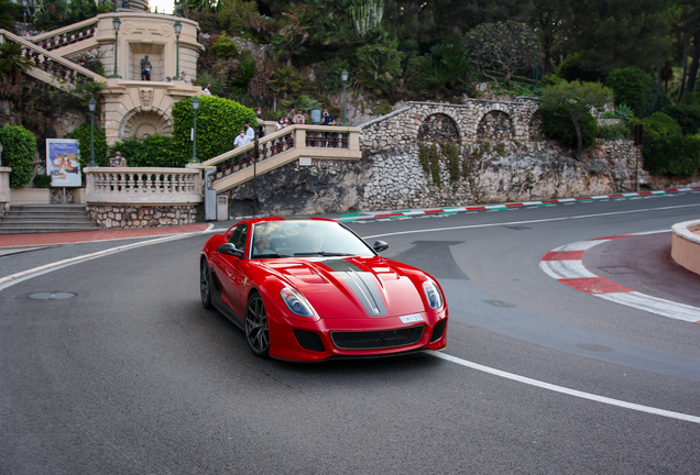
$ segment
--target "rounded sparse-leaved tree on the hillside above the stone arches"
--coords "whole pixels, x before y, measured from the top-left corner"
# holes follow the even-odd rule
[[[472,60],[480,74],[497,80],[491,73],[501,70],[506,84],[518,68],[542,60],[539,41],[529,26],[513,21],[483,23],[467,34]]]

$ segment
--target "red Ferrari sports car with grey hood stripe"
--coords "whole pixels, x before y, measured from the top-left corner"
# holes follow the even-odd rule
[[[253,354],[289,361],[440,350],[447,303],[426,273],[381,257],[343,224],[244,220],[211,236],[199,288],[244,332]]]

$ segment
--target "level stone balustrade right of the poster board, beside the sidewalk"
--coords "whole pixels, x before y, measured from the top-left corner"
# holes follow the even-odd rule
[[[201,172],[196,168],[85,168],[90,203],[175,205],[204,200]]]

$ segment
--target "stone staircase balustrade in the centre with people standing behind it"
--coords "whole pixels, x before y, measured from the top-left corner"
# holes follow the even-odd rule
[[[266,173],[300,156],[325,159],[359,159],[360,129],[324,125],[292,125],[259,140],[258,153],[254,142],[210,158],[197,168],[216,168],[214,188],[217,191],[236,186],[252,177],[252,173],[240,174],[253,164],[259,173]],[[255,159],[255,155],[258,158]],[[239,179],[220,181],[239,174]],[[250,175],[250,177],[249,177]],[[219,184],[217,185],[217,181]]]

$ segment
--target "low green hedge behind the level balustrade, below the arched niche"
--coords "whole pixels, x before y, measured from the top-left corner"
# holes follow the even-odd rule
[[[199,130],[197,130],[197,134],[199,134]],[[144,140],[130,139],[117,142],[110,147],[109,155],[113,156],[117,151],[121,152],[121,156],[127,159],[127,166],[129,167],[181,168],[192,157],[185,154],[185,151],[176,143],[175,139],[164,135],[151,135]]]

